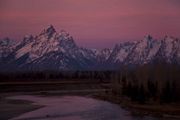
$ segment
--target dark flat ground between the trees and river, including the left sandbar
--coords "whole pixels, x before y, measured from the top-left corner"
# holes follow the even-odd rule
[[[97,80],[98,81],[98,80]],[[111,94],[110,82],[90,82],[90,80],[66,80],[46,82],[1,82],[0,120],[7,120],[43,106],[33,105],[30,101],[9,100],[7,97],[16,95],[63,96],[78,95],[110,101],[120,104],[133,115],[154,115],[162,118],[180,119],[178,104],[139,104],[129,102]],[[2,90],[3,88],[3,90]],[[169,119],[168,119],[169,120]]]

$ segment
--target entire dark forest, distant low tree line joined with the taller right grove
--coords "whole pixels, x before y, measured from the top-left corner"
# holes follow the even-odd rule
[[[180,102],[180,67],[173,64],[123,66],[116,71],[29,71],[0,73],[0,83],[73,81],[109,84],[111,96],[140,104]],[[3,84],[4,85],[4,84]],[[7,84],[8,87],[8,84]],[[2,87],[3,88],[3,87]],[[78,84],[77,84],[78,88]]]

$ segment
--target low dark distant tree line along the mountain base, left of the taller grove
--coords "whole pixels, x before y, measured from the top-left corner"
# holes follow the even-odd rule
[[[0,82],[89,79],[109,81],[112,71],[26,71],[0,73]]]

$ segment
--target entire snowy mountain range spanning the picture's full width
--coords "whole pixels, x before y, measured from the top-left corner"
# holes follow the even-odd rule
[[[64,30],[50,25],[39,35],[25,36],[16,44],[0,41],[1,70],[110,70],[120,65],[142,65],[163,60],[180,64],[180,40],[166,36],[162,40],[150,35],[143,40],[124,42],[111,49],[86,49],[76,45]]]

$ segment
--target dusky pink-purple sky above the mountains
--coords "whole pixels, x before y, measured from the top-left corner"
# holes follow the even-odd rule
[[[49,24],[91,48],[146,34],[180,38],[180,0],[0,0],[0,38],[22,39]]]

